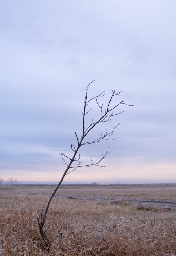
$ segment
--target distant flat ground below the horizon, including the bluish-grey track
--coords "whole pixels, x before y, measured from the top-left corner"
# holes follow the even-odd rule
[[[17,185],[1,190],[1,195],[50,196],[52,185]],[[15,189],[15,190],[14,190]],[[129,201],[139,205],[176,209],[176,184],[166,185],[62,185],[55,197],[73,197],[82,201]]]

